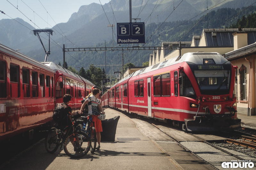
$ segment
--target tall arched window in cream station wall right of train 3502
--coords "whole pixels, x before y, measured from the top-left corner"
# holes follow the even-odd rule
[[[239,69],[239,75],[240,75],[240,100],[247,100],[246,95],[246,67],[242,64],[242,66]]]

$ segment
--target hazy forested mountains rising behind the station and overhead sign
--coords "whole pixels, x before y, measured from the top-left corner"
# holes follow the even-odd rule
[[[132,0],[132,18],[141,18],[137,19],[137,22],[145,22],[145,39],[147,43],[144,46],[159,46],[162,41],[177,41],[181,37],[182,41],[191,41],[192,35],[200,35],[202,27],[207,28],[207,22],[209,22],[209,28],[222,28],[223,26],[219,25],[225,22],[223,19],[230,18],[240,12],[239,15],[231,20],[234,22],[237,17],[247,15],[248,13],[243,13],[241,12],[242,10],[239,11],[237,8],[247,7],[253,4],[254,1],[255,0],[226,0],[224,2],[220,0]],[[141,2],[143,3],[141,4]],[[92,3],[83,5],[77,12],[71,15],[67,23],[59,23],[53,26],[51,29],[54,33],[50,36],[51,54],[49,61],[62,63],[62,44],[65,44],[66,48],[104,47],[104,41],[106,40],[106,46],[111,47],[112,29],[108,27],[108,24],[114,23],[116,25],[116,22],[129,22],[129,1],[111,0],[110,3],[103,5],[105,12],[100,4]],[[207,12],[203,12],[207,9],[207,6],[208,9],[215,6],[207,11],[209,13],[208,21],[206,17],[204,17]],[[217,10],[223,9],[223,7],[228,8],[228,10],[222,10],[216,13]],[[230,7],[233,9],[230,9]],[[112,9],[114,10],[114,15]],[[211,13],[214,11],[215,13]],[[188,22],[184,22],[199,13],[202,14]],[[198,22],[200,18],[202,18],[202,20]],[[13,49],[20,49],[21,53],[38,61],[44,61],[44,49],[38,38],[30,33],[31,30],[34,29],[33,26],[20,18],[16,18],[15,20],[0,20],[0,43]],[[230,26],[228,24],[232,24],[231,21],[226,23],[225,26]],[[162,26],[158,29],[160,25]],[[191,27],[193,27],[193,29],[189,31]],[[113,29],[114,46],[116,46],[116,27]],[[42,36],[42,41],[47,50],[48,36],[45,33],[40,33],[40,36]],[[133,44],[129,44],[129,46],[132,45]],[[142,45],[143,44],[140,44],[140,46]],[[121,45],[121,47],[124,46],[128,45]],[[121,53],[122,51],[108,51],[107,64],[122,63],[120,57],[122,56]],[[152,50],[133,50],[124,51],[124,53],[124,63],[132,62],[136,66],[141,66],[143,62],[148,61],[149,54],[152,53]],[[105,65],[104,54],[104,51],[68,52],[66,53],[66,61],[69,66],[73,66],[77,70],[79,70],[78,67],[81,66],[86,69],[89,64]],[[110,70],[111,72],[113,70],[119,71],[118,69],[120,68],[109,66],[106,72]]]

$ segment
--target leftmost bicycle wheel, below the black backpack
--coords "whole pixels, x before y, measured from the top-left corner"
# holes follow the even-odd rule
[[[58,134],[58,129],[51,128],[44,140],[44,146],[48,153],[54,153],[57,151],[61,142],[61,135]]]

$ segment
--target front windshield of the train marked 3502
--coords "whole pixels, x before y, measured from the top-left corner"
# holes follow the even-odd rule
[[[230,70],[194,70],[201,94],[228,94],[230,88]]]

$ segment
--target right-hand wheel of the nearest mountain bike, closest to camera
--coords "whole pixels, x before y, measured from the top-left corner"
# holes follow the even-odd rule
[[[81,131],[72,133],[64,140],[64,151],[71,158],[80,158],[86,155],[91,147],[90,137]]]

